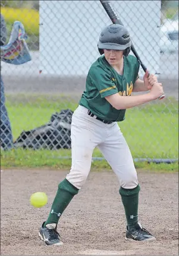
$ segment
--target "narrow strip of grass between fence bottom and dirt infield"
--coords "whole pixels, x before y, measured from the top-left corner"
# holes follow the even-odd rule
[[[101,157],[101,152],[95,149],[93,156]],[[63,159],[68,157],[68,159]],[[134,162],[136,168],[147,169],[158,172],[178,171],[178,163],[173,164],[147,164],[147,162]],[[8,152],[1,152],[1,166],[3,168],[49,168],[49,169],[70,169],[71,150],[24,150],[16,149]],[[111,170],[105,160],[93,161],[92,170]]]

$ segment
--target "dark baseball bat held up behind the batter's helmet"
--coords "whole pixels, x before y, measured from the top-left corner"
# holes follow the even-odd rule
[[[101,2],[103,8],[105,9],[105,11],[108,14],[109,18],[111,19],[112,23],[120,24],[120,25],[124,26],[123,22],[121,21],[120,17],[118,16],[117,12],[112,7],[111,2],[106,1],[106,0],[99,0],[99,1]],[[139,61],[140,66],[142,66],[143,71],[146,72],[147,68],[146,68],[145,64],[143,64],[142,60],[140,59],[139,54],[137,54],[137,51],[133,45],[133,42],[131,42],[131,51],[136,56],[137,60]],[[159,100],[162,100],[162,98],[165,98],[164,94],[162,94],[159,97]]]

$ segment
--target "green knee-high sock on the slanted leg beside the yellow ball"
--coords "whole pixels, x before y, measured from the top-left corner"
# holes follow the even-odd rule
[[[51,212],[49,213],[48,220],[45,222],[44,226],[50,223],[58,224],[59,217],[77,193],[78,189],[67,179],[59,183],[54,202],[52,203]]]

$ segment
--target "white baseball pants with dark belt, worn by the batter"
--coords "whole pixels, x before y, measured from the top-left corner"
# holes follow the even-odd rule
[[[87,109],[78,106],[71,123],[72,164],[67,180],[81,189],[89,175],[92,154],[95,147],[101,150],[124,189],[134,189],[138,185],[133,158],[123,133],[117,122],[103,122],[87,115]]]

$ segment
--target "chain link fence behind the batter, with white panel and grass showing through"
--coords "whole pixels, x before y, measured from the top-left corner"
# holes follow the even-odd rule
[[[177,159],[178,1],[111,4],[166,95],[163,101],[127,110],[120,127],[135,159]],[[71,115],[85,90],[90,65],[99,57],[101,30],[111,20],[100,1],[1,1],[1,14],[7,42],[14,21],[23,24],[32,58],[19,65],[1,61],[1,95],[5,88],[7,97],[1,106],[8,114],[2,107],[1,112],[10,120],[1,120],[1,140],[2,134],[10,138],[12,129],[15,147],[69,150]],[[142,69],[139,75],[142,78]]]

